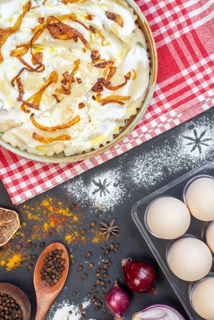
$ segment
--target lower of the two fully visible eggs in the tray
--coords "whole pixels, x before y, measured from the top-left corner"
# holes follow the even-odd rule
[[[183,237],[169,248],[167,262],[170,270],[185,281],[204,278],[212,266],[212,253],[203,241]]]

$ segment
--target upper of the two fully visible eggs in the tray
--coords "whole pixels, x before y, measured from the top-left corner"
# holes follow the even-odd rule
[[[182,236],[189,227],[190,219],[186,205],[181,200],[168,196],[153,201],[145,213],[148,229],[163,239]]]

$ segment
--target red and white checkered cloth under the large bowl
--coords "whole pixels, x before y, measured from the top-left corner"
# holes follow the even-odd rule
[[[37,163],[0,147],[0,177],[13,203],[96,167],[214,105],[213,0],[136,3],[151,26],[159,60],[155,94],[143,119],[111,150],[78,163]]]

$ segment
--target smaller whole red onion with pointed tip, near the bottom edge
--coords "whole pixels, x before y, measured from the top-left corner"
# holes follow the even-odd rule
[[[118,286],[115,280],[114,287],[106,294],[105,304],[114,315],[114,320],[122,319],[123,314],[129,308],[129,295]]]

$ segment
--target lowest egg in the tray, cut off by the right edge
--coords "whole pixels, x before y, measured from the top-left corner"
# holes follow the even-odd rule
[[[204,319],[214,320],[214,277],[199,281],[190,295],[192,308]]]

